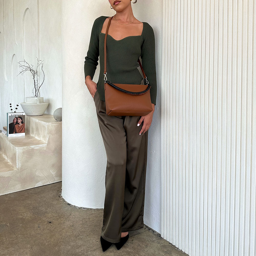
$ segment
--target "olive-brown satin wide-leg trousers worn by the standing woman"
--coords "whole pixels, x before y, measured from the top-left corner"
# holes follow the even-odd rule
[[[101,236],[116,243],[144,226],[148,131],[139,135],[141,116],[107,115],[98,91],[93,100],[107,156]]]

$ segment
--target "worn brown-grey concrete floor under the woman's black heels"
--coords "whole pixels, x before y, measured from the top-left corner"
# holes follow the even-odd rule
[[[129,231],[126,244],[105,252],[100,244],[103,209],[79,208],[61,196],[62,183],[0,196],[0,255],[187,255],[144,228]]]

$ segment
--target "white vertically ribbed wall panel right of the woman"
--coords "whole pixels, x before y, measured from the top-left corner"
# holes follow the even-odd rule
[[[163,6],[162,237],[255,255],[256,3]]]

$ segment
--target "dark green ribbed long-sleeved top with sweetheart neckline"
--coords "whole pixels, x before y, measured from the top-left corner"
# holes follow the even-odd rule
[[[100,16],[94,20],[89,49],[84,61],[84,76],[93,79],[100,57],[100,74],[97,82],[97,90],[100,99],[105,101],[104,91],[104,39],[101,32],[103,23],[108,16]],[[156,105],[156,63],[155,63],[155,35],[153,28],[143,22],[142,35],[127,36],[121,40],[115,40],[109,34],[106,41],[106,71],[107,80],[112,83],[140,84],[143,79],[139,67],[138,58],[141,56],[142,67],[151,85],[151,102]],[[145,83],[146,84],[146,83]]]

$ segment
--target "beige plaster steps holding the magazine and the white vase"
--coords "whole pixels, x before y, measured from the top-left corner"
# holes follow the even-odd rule
[[[62,122],[49,114],[25,115],[25,131],[0,133],[0,196],[62,180]]]

